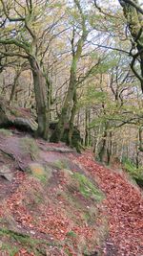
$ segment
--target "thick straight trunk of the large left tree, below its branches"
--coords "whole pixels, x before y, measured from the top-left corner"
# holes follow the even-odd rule
[[[49,104],[48,89],[44,74],[35,58],[30,58],[33,77],[36,111],[38,119],[38,136],[48,139],[49,135]]]

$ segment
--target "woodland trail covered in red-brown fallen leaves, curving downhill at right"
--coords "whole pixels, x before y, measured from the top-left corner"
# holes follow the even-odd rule
[[[97,180],[106,194],[110,238],[104,249],[106,256],[143,256],[142,192],[124,174],[112,172],[85,154],[77,158]],[[112,243],[111,243],[112,241]]]

